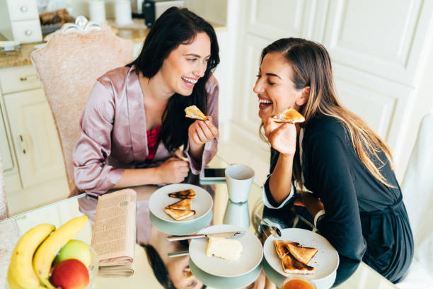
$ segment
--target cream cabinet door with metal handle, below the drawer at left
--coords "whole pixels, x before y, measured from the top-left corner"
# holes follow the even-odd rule
[[[62,153],[42,89],[4,96],[23,186],[64,175]]]

